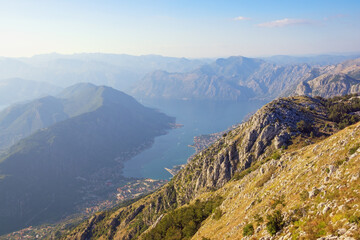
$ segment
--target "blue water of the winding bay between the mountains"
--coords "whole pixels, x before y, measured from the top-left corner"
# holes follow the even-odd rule
[[[142,101],[142,104],[159,109],[183,127],[170,130],[168,134],[155,138],[147,149],[127,161],[124,175],[167,179],[171,175],[164,168],[184,164],[195,152],[188,145],[194,136],[226,130],[240,123],[243,118],[263,106],[263,101],[207,102],[207,101]]]

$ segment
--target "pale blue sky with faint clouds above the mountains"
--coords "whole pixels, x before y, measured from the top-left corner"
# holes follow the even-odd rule
[[[0,56],[360,52],[359,0],[0,0]]]

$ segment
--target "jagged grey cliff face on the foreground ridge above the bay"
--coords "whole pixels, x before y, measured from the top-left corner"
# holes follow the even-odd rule
[[[303,108],[323,109],[315,99],[305,98],[302,103],[279,99],[264,106],[250,120],[229,132],[210,148],[200,152],[183,171],[175,176],[178,202],[189,201],[204,191],[218,189],[236,172],[245,170],[255,161],[287,146],[292,136],[299,134],[296,124],[312,122],[324,117],[325,112],[308,114]],[[184,184],[186,183],[186,184]]]

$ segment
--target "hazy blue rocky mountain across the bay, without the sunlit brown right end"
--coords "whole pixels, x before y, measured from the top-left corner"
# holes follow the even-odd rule
[[[307,79],[311,66],[275,65],[255,58],[217,59],[188,73],[156,71],[148,74],[133,94],[171,99],[273,99]]]

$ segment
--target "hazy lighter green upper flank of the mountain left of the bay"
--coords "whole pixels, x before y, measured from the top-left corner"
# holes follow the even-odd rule
[[[104,91],[112,94],[109,88],[79,83],[64,89],[57,97],[47,96],[8,107],[0,112],[0,149],[11,146],[38,129],[109,104],[106,100],[111,100],[104,98]],[[119,98],[122,93],[117,94]],[[129,102],[126,97],[121,99],[130,105],[135,101]]]

